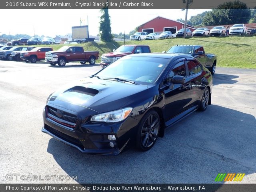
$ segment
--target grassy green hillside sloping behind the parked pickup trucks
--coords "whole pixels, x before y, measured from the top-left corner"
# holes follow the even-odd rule
[[[84,50],[98,50],[100,55],[112,52],[124,42],[88,42],[80,44]],[[126,41],[125,44],[147,44],[152,52],[168,50],[176,44],[202,45],[206,53],[217,55],[217,66],[236,68],[256,68],[255,36],[192,37],[165,40]],[[57,50],[63,45],[51,45]],[[100,62],[100,59],[97,61]]]

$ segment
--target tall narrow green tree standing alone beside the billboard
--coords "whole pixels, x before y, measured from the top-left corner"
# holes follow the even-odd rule
[[[102,8],[100,10],[102,13],[102,16],[100,16],[100,40],[103,42],[110,42],[113,41],[113,35],[111,34],[111,22],[110,22],[110,16],[108,14],[108,6]]]

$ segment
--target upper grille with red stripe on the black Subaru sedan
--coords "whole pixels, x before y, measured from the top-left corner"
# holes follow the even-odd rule
[[[47,106],[46,109],[47,109],[47,116],[50,119],[71,128],[74,128],[76,126],[78,118],[74,114],[61,111],[63,113],[63,116],[58,116],[57,115],[58,110],[56,108]]]

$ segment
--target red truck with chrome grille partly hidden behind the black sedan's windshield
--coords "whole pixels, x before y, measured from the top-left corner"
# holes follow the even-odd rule
[[[111,53],[103,54],[101,56],[100,66],[104,68],[123,56],[137,53],[151,53],[151,50],[148,45],[122,45]]]

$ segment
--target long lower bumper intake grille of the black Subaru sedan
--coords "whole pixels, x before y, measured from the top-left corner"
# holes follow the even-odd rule
[[[71,144],[74,144],[74,145],[76,145],[76,146],[78,146],[82,149],[84,148],[84,146],[82,145],[82,143],[80,142],[79,139],[74,138],[72,136],[69,136],[67,134],[64,134],[64,133],[62,133],[62,132],[60,132],[60,131],[58,131],[58,130],[56,130],[56,129],[54,129],[54,128],[46,125],[46,124],[44,124],[44,128],[47,131],[49,131],[51,134],[54,134],[55,136],[57,136],[58,138],[63,139],[63,140],[65,140],[65,141],[67,141]]]

